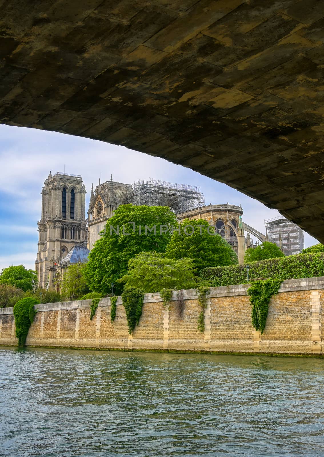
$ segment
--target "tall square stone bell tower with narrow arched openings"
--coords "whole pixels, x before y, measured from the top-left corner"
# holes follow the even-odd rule
[[[42,188],[35,270],[39,287],[54,288],[59,261],[86,239],[85,186],[80,175],[49,173]]]

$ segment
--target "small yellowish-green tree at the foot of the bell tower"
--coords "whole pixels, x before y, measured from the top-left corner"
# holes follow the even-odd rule
[[[69,265],[64,272],[61,282],[61,292],[65,298],[78,300],[89,292],[89,287],[85,279],[85,263],[74,263]]]

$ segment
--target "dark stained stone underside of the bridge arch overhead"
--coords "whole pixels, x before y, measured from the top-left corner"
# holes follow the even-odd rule
[[[0,6],[1,123],[163,157],[324,242],[324,1]]]

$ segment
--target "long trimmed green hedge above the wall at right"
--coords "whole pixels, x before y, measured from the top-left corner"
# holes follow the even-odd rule
[[[324,276],[324,253],[298,254],[251,262],[251,279],[298,279]],[[214,266],[202,269],[200,276],[211,287],[247,282],[246,265]]]

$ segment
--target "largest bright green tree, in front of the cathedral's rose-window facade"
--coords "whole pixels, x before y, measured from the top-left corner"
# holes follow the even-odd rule
[[[113,282],[116,293],[121,293],[117,279],[126,275],[128,261],[142,251],[165,252],[172,226],[177,222],[169,207],[118,207],[89,254],[85,275],[90,289],[106,295]]]

